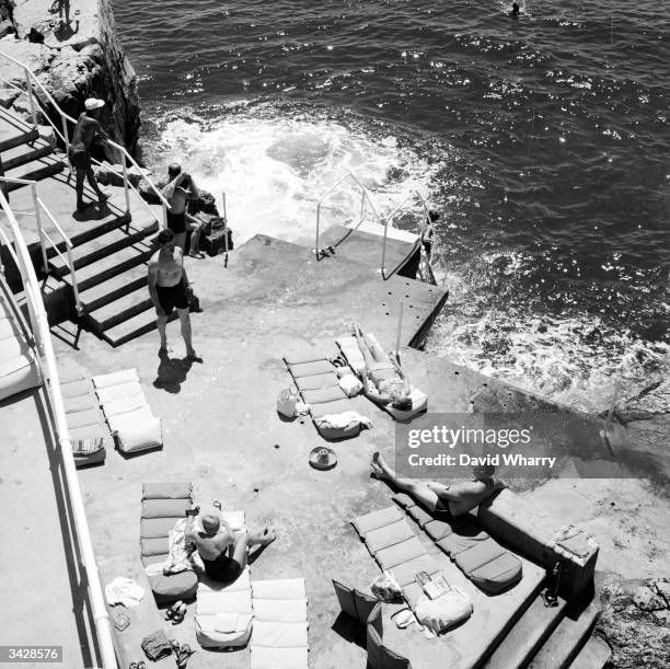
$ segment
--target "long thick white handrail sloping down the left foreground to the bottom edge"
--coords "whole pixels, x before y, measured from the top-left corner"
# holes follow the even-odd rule
[[[16,266],[21,274],[31,319],[31,328],[35,335],[37,349],[41,354],[39,362],[43,369],[43,376],[46,379],[45,389],[47,390],[47,397],[50,401],[53,416],[56,423],[60,460],[67,482],[66,494],[70,499],[70,506],[74,517],[76,539],[86,572],[88,593],[93,613],[101,660],[104,669],[117,669],[118,665],[114,650],[112,623],[105,605],[100,575],[95,563],[95,553],[93,551],[93,543],[86,521],[83,497],[77,476],[74,459],[72,457],[72,440],[68,430],[62,395],[60,393],[60,380],[56,366],[56,356],[54,355],[49,324],[39,292],[39,284],[35,276],[35,269],[25,240],[21,234],[19,223],[2,191],[0,191],[0,208],[4,210],[7,215],[9,228],[13,237],[12,257],[16,261]],[[3,234],[4,239],[7,239],[7,237],[8,235]],[[8,247],[11,247],[11,244],[8,243]]]

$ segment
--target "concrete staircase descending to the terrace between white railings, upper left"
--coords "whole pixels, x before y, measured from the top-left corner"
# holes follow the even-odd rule
[[[106,206],[92,204],[83,212],[74,211],[74,184],[69,165],[37,131],[4,109],[0,109],[0,157],[5,176],[37,181],[41,199],[73,244],[72,257],[83,312],[79,323],[112,346],[119,346],[155,327],[155,314],[147,288],[147,261],[154,251],[149,239],[158,231],[155,214],[160,207],[147,206],[130,192],[130,211],[126,212],[123,187],[106,186],[111,199]],[[12,210],[18,219],[35,266],[41,266],[38,235],[31,188],[9,184]],[[89,186],[84,199],[94,200]],[[43,216],[48,234],[65,255],[66,246]],[[55,249],[47,251],[50,277],[61,281],[73,305],[72,277],[67,262]],[[72,318],[73,309],[71,309]]]

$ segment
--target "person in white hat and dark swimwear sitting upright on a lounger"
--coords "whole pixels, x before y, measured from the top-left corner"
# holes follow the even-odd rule
[[[259,532],[234,532],[217,508],[206,509],[198,518],[199,523],[194,518],[186,529],[186,545],[195,545],[207,575],[221,583],[235,580],[242,574],[247,549],[265,547],[277,538],[270,528]]]

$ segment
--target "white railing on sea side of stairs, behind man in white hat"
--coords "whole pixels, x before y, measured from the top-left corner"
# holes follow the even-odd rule
[[[58,106],[58,103],[54,100],[53,95],[46,90],[46,88],[43,85],[43,83],[39,81],[39,79],[37,79],[37,77],[35,77],[34,72],[25,64],[21,62],[20,60],[16,60],[15,58],[12,58],[11,56],[8,56],[3,51],[0,51],[0,58],[4,58],[5,60],[9,60],[10,62],[13,62],[15,66],[18,66],[18,67],[23,69],[23,73],[24,73],[24,77],[25,77],[26,92],[27,92],[27,95],[28,95],[30,102],[31,102],[31,116],[32,116],[32,119],[33,119],[33,126],[35,128],[37,128],[37,111],[36,109],[37,109],[37,107],[39,107],[41,111],[42,111],[42,114],[45,117],[45,119],[47,120],[47,123],[51,126],[51,128],[54,128],[54,131],[58,135],[58,137],[60,137],[61,141],[65,145],[66,152],[67,152],[67,150],[68,150],[68,148],[70,146],[69,145],[69,140],[68,140],[68,122],[72,123],[72,124],[77,124],[77,119],[72,118],[71,116],[66,114]],[[14,89],[22,90],[20,86],[13,84],[8,79],[0,78],[0,80],[4,81],[7,84],[9,84],[10,86],[12,86]],[[58,113],[58,115],[60,116],[60,120],[62,123],[62,131],[60,131],[56,127],[54,122],[49,118],[48,114],[46,114],[44,112],[44,109],[42,108],[42,104],[39,102],[39,99],[36,99],[36,95],[34,94],[33,84],[37,85],[37,88],[39,89],[41,93],[44,95],[44,97],[50,104],[51,108],[54,108]],[[130,212],[130,189],[132,189],[135,193],[137,193],[138,197],[145,204],[146,208],[149,210],[151,216],[153,216],[155,218],[155,220],[159,223],[159,227],[161,227],[161,226],[162,227],[166,227],[168,226],[168,208],[170,207],[170,203],[165,199],[163,194],[155,187],[155,185],[151,182],[151,180],[149,180],[149,178],[147,178],[145,176],[145,178],[147,180],[147,183],[149,184],[149,187],[151,188],[151,191],[158,197],[159,201],[162,205],[162,208],[163,208],[163,220],[161,221],[160,218],[158,216],[155,216],[155,214],[153,212],[151,207],[149,207],[149,205],[141,197],[141,195],[139,194],[139,191],[128,180],[128,170],[127,170],[127,166],[126,166],[126,161],[128,161],[138,171],[139,174],[143,174],[141,168],[137,164],[137,162],[130,155],[130,153],[128,153],[128,151],[126,151],[125,147],[123,147],[122,145],[117,145],[115,141],[112,141],[111,139],[107,140],[107,143],[111,147],[113,147],[114,149],[116,149],[117,151],[119,151],[120,154],[122,154],[120,164],[122,164],[123,174],[124,174],[124,192],[125,192],[125,198],[126,198],[126,212]],[[124,158],[125,158],[125,160],[124,160]],[[93,162],[95,162],[97,165],[101,164],[96,160],[93,161]]]

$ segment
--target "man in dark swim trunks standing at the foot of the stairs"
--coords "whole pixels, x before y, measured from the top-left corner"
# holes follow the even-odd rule
[[[186,357],[201,362],[203,359],[193,348],[190,336],[188,298],[193,290],[184,267],[184,252],[176,245],[172,230],[161,230],[158,243],[160,249],[149,261],[149,295],[155,307],[161,336],[160,355],[168,355],[165,327],[172,310],[176,309],[182,323],[182,336],[186,344]]]

